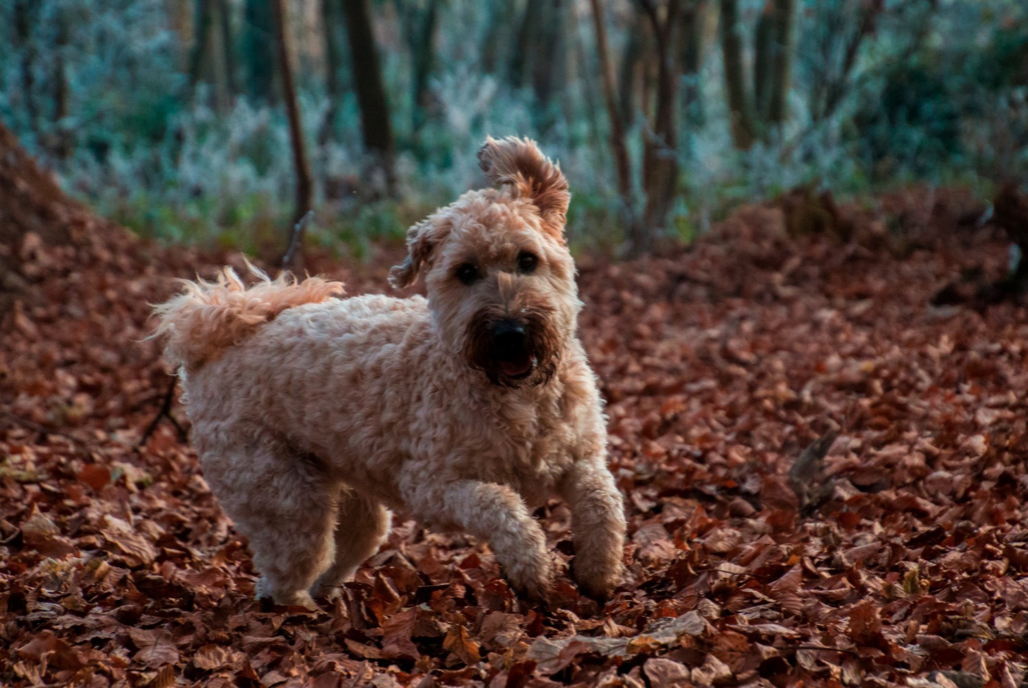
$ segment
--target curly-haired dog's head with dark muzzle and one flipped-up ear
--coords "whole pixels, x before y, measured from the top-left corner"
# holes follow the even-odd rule
[[[567,180],[527,139],[489,138],[478,160],[500,188],[470,191],[411,227],[390,281],[424,274],[440,336],[491,383],[544,384],[581,307],[564,243]]]

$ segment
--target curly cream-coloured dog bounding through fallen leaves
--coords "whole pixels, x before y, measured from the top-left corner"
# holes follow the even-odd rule
[[[225,268],[157,306],[212,492],[250,541],[258,598],[332,599],[391,510],[488,541],[513,589],[545,602],[554,563],[533,509],[568,504],[572,575],[622,578],[621,493],[564,239],[567,180],[527,139],[487,139],[500,188],[407,231],[390,281],[428,298],[336,298],[319,277],[246,288]]]

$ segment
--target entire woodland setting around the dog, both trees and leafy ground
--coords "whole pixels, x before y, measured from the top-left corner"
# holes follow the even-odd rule
[[[1028,685],[1026,27],[999,0],[0,2],[0,685]],[[341,600],[262,605],[150,304],[241,250],[274,268],[307,208],[306,269],[391,293],[487,133],[571,180],[625,582],[578,594],[554,501],[550,608],[403,514]]]

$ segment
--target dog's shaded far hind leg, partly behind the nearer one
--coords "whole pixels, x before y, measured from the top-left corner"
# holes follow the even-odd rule
[[[335,525],[335,561],[310,587],[310,595],[334,599],[357,568],[378,551],[393,517],[381,504],[343,490]]]

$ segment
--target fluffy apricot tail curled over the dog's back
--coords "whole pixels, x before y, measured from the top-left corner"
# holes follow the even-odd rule
[[[182,294],[154,307],[158,323],[150,337],[164,339],[164,357],[170,364],[195,370],[287,308],[320,303],[343,293],[342,282],[322,277],[297,281],[289,273],[272,280],[247,265],[258,278],[249,289],[226,267],[214,281],[182,280]]]

